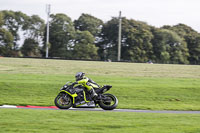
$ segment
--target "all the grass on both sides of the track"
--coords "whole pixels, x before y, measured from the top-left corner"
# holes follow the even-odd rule
[[[200,110],[200,66],[0,58],[0,105],[54,105],[84,71],[119,99],[118,108]],[[0,109],[2,133],[199,133],[199,114]]]

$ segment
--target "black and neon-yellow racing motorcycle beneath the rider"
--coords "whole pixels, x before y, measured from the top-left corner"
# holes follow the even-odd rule
[[[92,99],[87,89],[82,85],[73,86],[72,82],[67,82],[54,100],[55,105],[60,109],[78,108],[83,105],[87,107],[98,107],[104,110],[113,110],[117,107],[118,99],[113,94],[105,93],[112,86],[104,85],[101,88],[94,88],[98,96]]]

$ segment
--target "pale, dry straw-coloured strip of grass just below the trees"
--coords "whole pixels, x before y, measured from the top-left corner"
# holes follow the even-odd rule
[[[0,73],[75,75],[84,71],[89,76],[200,78],[198,65],[163,65],[98,61],[0,58]]]

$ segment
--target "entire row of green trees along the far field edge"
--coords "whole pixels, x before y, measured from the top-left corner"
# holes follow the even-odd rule
[[[72,21],[66,14],[50,15],[49,44],[46,25],[38,15],[0,11],[0,56],[117,60],[117,17],[107,22],[82,14]],[[19,46],[23,37],[22,45]],[[200,33],[185,24],[157,28],[122,18],[121,60],[172,64],[200,64]]]

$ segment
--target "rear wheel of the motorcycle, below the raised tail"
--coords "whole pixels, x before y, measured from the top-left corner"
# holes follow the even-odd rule
[[[99,102],[99,106],[104,110],[113,110],[117,107],[118,99],[112,94],[103,94],[102,100]]]

